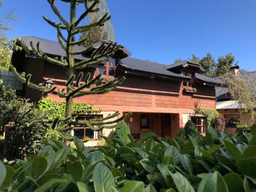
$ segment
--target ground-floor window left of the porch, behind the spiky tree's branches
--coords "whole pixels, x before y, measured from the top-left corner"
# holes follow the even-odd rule
[[[78,120],[90,120],[94,118],[102,118],[102,115],[87,115],[77,117]],[[96,140],[98,139],[98,132],[91,130],[90,127],[75,127],[74,136],[78,137],[79,139],[89,137],[92,140]]]

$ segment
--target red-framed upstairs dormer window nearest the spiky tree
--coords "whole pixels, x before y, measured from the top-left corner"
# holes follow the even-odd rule
[[[97,66],[98,74],[101,73],[102,75],[107,76],[114,76],[116,72],[116,58],[110,58],[105,63]]]

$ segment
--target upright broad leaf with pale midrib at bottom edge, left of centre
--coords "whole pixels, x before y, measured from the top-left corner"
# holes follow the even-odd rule
[[[115,181],[111,170],[101,162],[94,168],[93,184],[96,192],[112,192],[112,188],[115,188]]]

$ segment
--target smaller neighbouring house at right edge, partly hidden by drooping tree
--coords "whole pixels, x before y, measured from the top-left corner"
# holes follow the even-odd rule
[[[256,71],[239,74],[239,66],[230,67],[230,72],[235,75],[240,75],[248,85],[251,94],[256,95]],[[219,77],[215,78],[220,80]],[[230,97],[229,89],[226,87],[216,87],[216,109],[226,119],[226,132],[236,132],[236,126],[238,124],[248,124],[250,120],[249,114],[242,114],[240,119],[241,106],[237,100],[233,100]],[[255,119],[256,122],[256,119]]]

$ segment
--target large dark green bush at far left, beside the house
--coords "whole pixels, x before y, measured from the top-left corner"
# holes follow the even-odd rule
[[[34,108],[28,100],[18,99],[11,103],[16,109],[13,112],[15,116],[11,118],[13,123],[6,129],[8,153],[15,157],[38,153],[48,128],[41,121],[46,118],[45,113]]]

